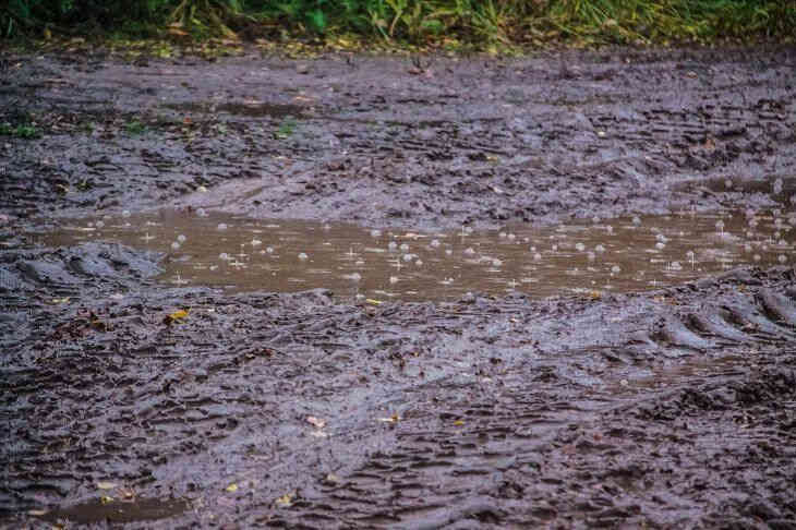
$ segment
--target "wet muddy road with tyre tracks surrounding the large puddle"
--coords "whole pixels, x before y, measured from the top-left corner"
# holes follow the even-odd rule
[[[1,56],[0,526],[796,528],[795,67]]]

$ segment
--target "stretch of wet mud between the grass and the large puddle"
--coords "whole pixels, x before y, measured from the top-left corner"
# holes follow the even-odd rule
[[[33,115],[45,134],[3,148],[0,207],[14,216],[173,201],[438,229],[704,210],[739,194],[770,205],[777,178],[779,198],[796,192],[793,48],[430,58],[424,70],[339,56],[4,64],[4,120]],[[707,185],[727,179],[737,185]],[[212,192],[184,196],[202,185]]]

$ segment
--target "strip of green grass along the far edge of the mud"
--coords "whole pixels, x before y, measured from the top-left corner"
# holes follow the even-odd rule
[[[480,49],[793,41],[793,0],[7,0],[5,37],[299,39]],[[0,3],[2,5],[2,3]],[[76,28],[76,29],[75,29]],[[341,36],[353,36],[343,38]]]

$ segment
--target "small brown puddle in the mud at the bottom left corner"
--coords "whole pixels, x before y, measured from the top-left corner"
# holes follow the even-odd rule
[[[52,523],[64,519],[79,525],[128,523],[174,517],[190,506],[184,499],[138,498],[130,502],[102,502],[97,498],[68,508],[55,509],[39,517]]]

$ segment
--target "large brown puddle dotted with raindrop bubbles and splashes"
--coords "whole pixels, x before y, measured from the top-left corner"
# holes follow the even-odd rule
[[[740,265],[793,264],[794,225],[796,213],[774,210],[421,233],[200,210],[86,220],[40,239],[50,245],[105,240],[164,252],[159,280],[173,286],[454,300],[468,291],[536,298],[638,291]]]

